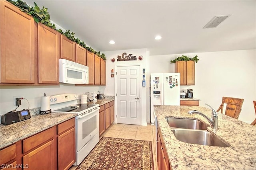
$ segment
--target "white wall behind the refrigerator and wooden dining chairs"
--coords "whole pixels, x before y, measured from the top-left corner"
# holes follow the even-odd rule
[[[194,98],[218,109],[222,96],[243,98],[244,104],[239,119],[251,123],[255,118],[253,100],[256,100],[256,50],[221,51],[210,53],[191,53],[178,55],[150,56],[150,74],[174,72],[170,60],[186,55],[198,56],[195,64],[195,85],[181,86],[192,88]]]

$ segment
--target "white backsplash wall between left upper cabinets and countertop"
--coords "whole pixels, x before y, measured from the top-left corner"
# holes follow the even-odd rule
[[[26,98],[30,104],[29,108],[41,107],[41,97],[53,96],[63,93],[75,93],[78,95],[86,92],[104,92],[104,86],[75,86],[74,84],[60,84],[58,86],[0,86],[0,115],[14,110],[13,96]],[[28,102],[22,100],[17,110],[28,109]]]

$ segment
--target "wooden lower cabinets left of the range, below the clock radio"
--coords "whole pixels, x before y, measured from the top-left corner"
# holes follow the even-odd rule
[[[1,148],[0,169],[68,170],[76,161],[75,137],[72,118]]]

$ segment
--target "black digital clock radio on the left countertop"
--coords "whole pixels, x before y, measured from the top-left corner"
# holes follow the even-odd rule
[[[12,123],[16,123],[19,121],[24,121],[26,119],[30,119],[30,113],[29,110],[21,110],[21,111],[15,111],[10,113],[5,113],[1,117],[1,123],[4,125],[10,125]]]

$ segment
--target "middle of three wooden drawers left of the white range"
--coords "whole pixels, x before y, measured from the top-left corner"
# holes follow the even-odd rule
[[[22,141],[23,153],[37,147],[38,145],[41,145],[42,143],[48,141],[53,137],[54,137],[54,127],[51,127],[50,129],[42,131],[36,135],[33,135],[32,137],[29,137],[28,139],[23,140]]]

